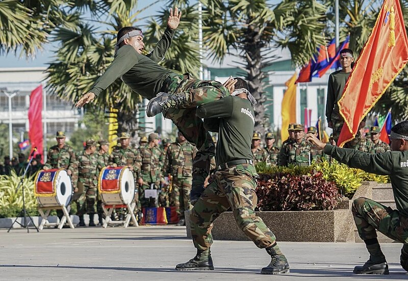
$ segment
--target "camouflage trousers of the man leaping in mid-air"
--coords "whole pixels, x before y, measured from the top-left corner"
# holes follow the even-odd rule
[[[163,115],[171,119],[184,137],[197,147],[193,159],[192,185],[193,188],[203,187],[210,172],[211,158],[215,155],[215,145],[211,135],[204,129],[201,118],[195,116],[196,107],[228,96],[230,91],[217,81],[190,79],[188,74],[173,76],[162,89],[186,96],[187,103],[184,106],[170,108]]]

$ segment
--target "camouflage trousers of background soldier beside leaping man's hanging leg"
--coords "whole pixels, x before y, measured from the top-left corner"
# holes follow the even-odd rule
[[[171,191],[170,206],[175,206],[175,211],[180,219],[184,219],[184,211],[190,210],[191,177],[173,177],[173,190]]]

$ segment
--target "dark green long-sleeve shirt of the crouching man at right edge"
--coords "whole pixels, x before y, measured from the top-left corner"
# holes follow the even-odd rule
[[[397,209],[408,217],[408,151],[387,151],[372,155],[327,144],[324,153],[351,168],[389,175]]]

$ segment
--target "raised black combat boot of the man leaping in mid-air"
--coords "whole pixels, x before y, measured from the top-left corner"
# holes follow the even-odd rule
[[[183,93],[169,94],[160,92],[150,99],[147,104],[146,114],[148,117],[153,117],[169,108],[184,105],[186,102],[187,98]]]

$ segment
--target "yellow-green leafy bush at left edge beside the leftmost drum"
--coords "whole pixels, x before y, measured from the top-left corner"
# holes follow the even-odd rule
[[[19,183],[20,177],[14,171],[11,175],[0,175],[0,218],[18,216],[23,207],[22,188],[24,188],[25,209],[32,216],[38,215],[33,177],[24,178],[22,187],[16,192]]]

